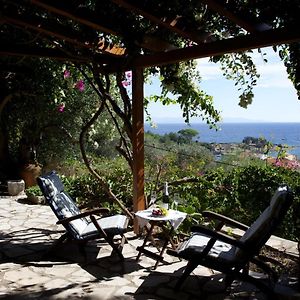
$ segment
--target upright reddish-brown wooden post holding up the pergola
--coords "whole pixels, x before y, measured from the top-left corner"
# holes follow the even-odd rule
[[[133,210],[146,208],[144,195],[144,76],[143,68],[132,70]],[[134,232],[139,233],[134,223]]]

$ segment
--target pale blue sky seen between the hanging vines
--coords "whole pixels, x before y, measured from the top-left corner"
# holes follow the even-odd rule
[[[257,50],[253,51],[260,78],[254,89],[253,103],[247,109],[238,105],[239,93],[234,82],[225,79],[219,65],[208,59],[199,59],[198,67],[202,76],[201,87],[214,97],[216,109],[221,111],[224,122],[300,122],[300,101],[292,83],[287,78],[283,63],[278,54],[270,48],[263,49],[267,53],[265,63]],[[159,81],[145,86],[145,95],[159,93]],[[149,112],[154,123],[183,122],[179,106],[167,107],[153,103]],[[193,119],[191,124],[201,119]]]

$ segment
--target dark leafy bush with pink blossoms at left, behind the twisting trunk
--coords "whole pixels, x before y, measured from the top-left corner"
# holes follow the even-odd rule
[[[28,151],[36,151],[37,160],[46,166],[57,160],[79,159],[79,134],[99,106],[98,95],[75,67],[46,59],[26,61],[25,65],[32,76],[14,74],[12,82],[4,81],[3,93],[12,95],[1,115],[10,157],[22,164],[28,162]],[[116,136],[114,124],[104,112],[89,131],[86,147],[98,155],[115,156]]]

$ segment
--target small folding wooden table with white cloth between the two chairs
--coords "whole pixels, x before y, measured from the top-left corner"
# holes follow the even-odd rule
[[[138,224],[141,228],[145,228],[147,230],[146,237],[142,246],[137,247],[138,256],[136,260],[139,260],[141,254],[145,254],[150,258],[156,260],[154,269],[157,268],[159,262],[163,262],[163,254],[165,249],[168,246],[168,243],[171,243],[173,249],[175,248],[174,243],[172,241],[171,235],[174,230],[176,230],[182,221],[186,218],[186,213],[169,209],[168,214],[166,216],[154,216],[152,215],[152,209],[141,210],[135,213],[135,216],[138,220]],[[148,226],[150,224],[150,227]],[[167,226],[170,224],[171,226]],[[153,239],[153,229],[155,226],[158,226],[163,231],[164,241],[162,247],[159,249],[159,254],[154,253],[148,249],[145,249],[146,243]]]

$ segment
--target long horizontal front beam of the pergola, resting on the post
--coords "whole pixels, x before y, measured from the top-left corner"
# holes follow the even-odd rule
[[[51,48],[30,48],[20,45],[1,45],[0,54],[10,56],[31,56],[46,57],[60,61],[73,62],[92,62],[102,63],[106,65],[106,71],[113,73],[119,70],[132,69],[134,67],[152,67],[171,63],[177,63],[184,60],[198,59],[222,55],[226,53],[246,51],[255,48],[263,48],[278,44],[288,44],[300,41],[300,32],[296,30],[274,29],[260,33],[248,34],[235,38],[203,43],[201,45],[170,50],[168,52],[160,52],[152,55],[140,55],[131,61],[122,57],[111,56],[78,56],[67,55],[60,50]]]

